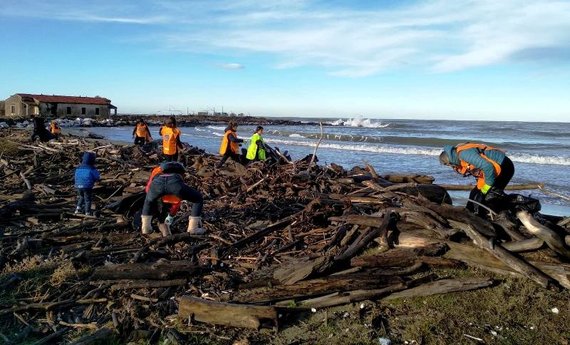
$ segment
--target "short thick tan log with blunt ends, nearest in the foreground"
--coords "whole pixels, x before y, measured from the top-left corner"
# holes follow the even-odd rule
[[[264,322],[271,321],[275,329],[279,327],[276,307],[212,302],[189,296],[180,299],[178,317],[182,320],[193,319],[208,324],[250,329],[260,329]]]

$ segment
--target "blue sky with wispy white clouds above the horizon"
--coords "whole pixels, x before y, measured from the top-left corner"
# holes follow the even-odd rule
[[[0,98],[570,122],[570,1],[1,0]]]

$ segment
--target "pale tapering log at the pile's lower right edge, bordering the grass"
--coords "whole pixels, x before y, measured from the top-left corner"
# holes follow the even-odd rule
[[[383,299],[397,299],[407,297],[430,296],[432,294],[446,294],[447,292],[460,292],[481,289],[493,284],[488,278],[467,278],[467,279],[442,279],[435,282],[422,284],[412,289],[403,290],[389,294]]]

